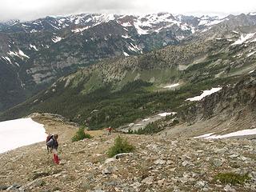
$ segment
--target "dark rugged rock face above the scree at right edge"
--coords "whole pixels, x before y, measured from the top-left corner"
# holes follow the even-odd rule
[[[203,98],[188,110],[182,111],[181,118],[188,122],[206,120],[214,116],[242,119],[255,115],[256,109],[256,76],[255,72],[242,78],[234,85],[224,86],[222,90]]]

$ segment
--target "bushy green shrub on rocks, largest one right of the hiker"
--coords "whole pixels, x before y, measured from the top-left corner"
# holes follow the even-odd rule
[[[107,154],[112,158],[116,154],[129,153],[134,151],[134,149],[135,147],[127,142],[127,138],[125,139],[118,135],[118,137],[114,139],[114,146],[110,147]]]

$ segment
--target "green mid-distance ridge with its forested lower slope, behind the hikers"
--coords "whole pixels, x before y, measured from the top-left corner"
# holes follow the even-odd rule
[[[123,126],[162,110],[178,112],[187,98],[202,90],[234,84],[253,74],[254,34],[231,31],[230,35],[232,39],[223,35],[148,54],[105,59],[59,78],[47,90],[1,114],[1,119],[50,112],[99,129]],[[178,86],[165,88],[174,84]],[[194,102],[184,107],[190,105]]]

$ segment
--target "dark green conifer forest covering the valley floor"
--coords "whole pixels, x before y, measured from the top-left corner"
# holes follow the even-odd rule
[[[48,111],[62,114],[72,122],[88,126],[90,130],[108,126],[117,128],[158,111],[184,110],[194,105],[194,102],[186,102],[186,98],[198,95],[214,85],[225,85],[229,82],[232,82],[230,78],[222,78],[199,82],[194,86],[187,84],[178,90],[156,92],[149,90],[150,83],[138,80],[129,82],[116,92],[112,92],[111,86],[106,85],[90,94],[80,94],[77,88],[64,89],[63,85],[58,84],[54,92],[48,90],[47,94],[42,94],[39,98],[31,98],[29,102],[6,111],[2,118]],[[131,86],[134,87],[133,90],[129,88]],[[82,90],[82,85],[80,89]]]

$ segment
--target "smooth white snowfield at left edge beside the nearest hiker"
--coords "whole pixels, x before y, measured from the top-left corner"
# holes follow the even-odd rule
[[[45,141],[46,136],[43,125],[31,118],[0,122],[0,153]]]

